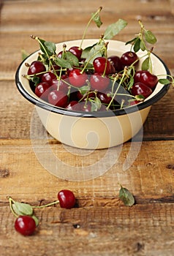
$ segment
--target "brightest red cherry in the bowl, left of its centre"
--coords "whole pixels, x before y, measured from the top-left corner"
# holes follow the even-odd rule
[[[72,69],[69,72],[69,82],[72,86],[81,87],[86,83],[88,75],[86,73],[81,74],[80,69]]]

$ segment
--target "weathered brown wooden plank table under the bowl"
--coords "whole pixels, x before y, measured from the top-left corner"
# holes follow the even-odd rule
[[[155,53],[174,74],[173,0],[4,0],[1,1],[0,37],[0,255],[174,255],[174,91],[154,104],[143,129],[143,143],[128,170],[122,166],[129,151],[125,143],[116,165],[88,181],[67,181],[50,174],[40,164],[31,145],[34,106],[15,86],[20,50],[38,49],[30,34],[53,42],[79,39],[91,12],[103,7],[103,29],[118,18],[129,26],[116,39],[127,41],[139,31],[137,19],[156,34]],[[98,37],[91,25],[87,38]],[[37,121],[34,123],[38,132]],[[41,128],[40,132],[44,132]],[[61,161],[77,166],[83,158],[91,165],[103,156],[94,151],[77,157],[53,138],[48,145]],[[41,145],[43,147],[45,145]],[[81,160],[82,161],[82,160]],[[135,195],[136,204],[124,206],[118,199],[122,184]],[[52,206],[37,209],[40,220],[34,236],[20,236],[7,196],[39,205],[56,200],[61,189],[71,189],[78,208]]]

